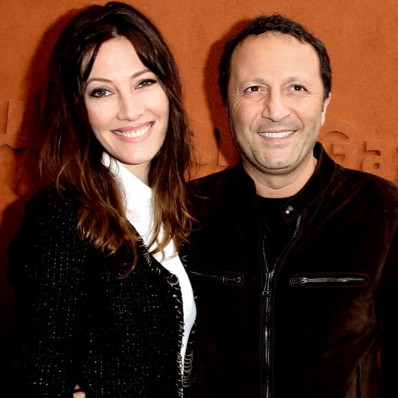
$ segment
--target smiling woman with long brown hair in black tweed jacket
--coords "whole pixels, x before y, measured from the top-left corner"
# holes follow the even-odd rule
[[[177,254],[191,144],[174,59],[110,2],[67,25],[47,75],[34,139],[51,184],[10,246],[14,393],[183,397],[196,310]]]

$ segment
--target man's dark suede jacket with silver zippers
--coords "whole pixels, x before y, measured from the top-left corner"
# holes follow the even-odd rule
[[[194,182],[205,197],[195,198],[201,227],[187,248],[198,397],[397,391],[398,187],[341,167],[320,143],[314,155],[314,175],[279,209],[294,226],[276,264],[242,165]]]

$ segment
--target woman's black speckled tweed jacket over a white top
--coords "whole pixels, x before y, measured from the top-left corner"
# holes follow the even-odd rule
[[[183,306],[174,275],[141,246],[105,256],[80,239],[77,207],[42,191],[9,250],[14,288],[14,396],[187,397],[180,371]]]

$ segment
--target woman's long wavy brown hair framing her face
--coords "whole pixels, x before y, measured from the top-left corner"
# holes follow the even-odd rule
[[[159,31],[130,5],[110,2],[80,12],[65,27],[52,54],[36,121],[34,141],[40,178],[50,178],[58,194],[79,204],[82,239],[106,254],[130,244],[137,261],[139,237],[126,218],[124,200],[95,139],[84,105],[84,86],[97,51],[106,40],[124,36],[143,65],[154,72],[169,99],[165,142],[150,164],[148,183],[154,197],[154,252],[172,239],[185,242],[193,218],[186,177],[191,165],[191,139],[176,63]],[[163,235],[159,232],[163,228]],[[161,238],[159,238],[161,236]],[[156,240],[157,239],[157,240]],[[148,246],[151,246],[149,244]]]

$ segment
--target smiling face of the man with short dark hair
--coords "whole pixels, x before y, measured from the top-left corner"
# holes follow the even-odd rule
[[[231,58],[233,138],[248,173],[291,174],[312,159],[330,97],[315,49],[288,34],[248,36]]]

